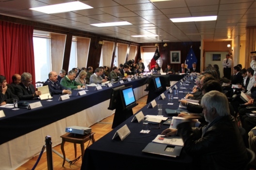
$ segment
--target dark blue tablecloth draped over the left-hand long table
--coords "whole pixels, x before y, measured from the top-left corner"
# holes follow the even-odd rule
[[[147,77],[139,78],[125,82],[124,85],[132,85],[133,88],[137,88],[145,85],[147,79]],[[103,89],[98,91],[95,90],[95,87],[88,87],[89,91],[86,91],[86,95],[82,96],[77,96],[78,90],[72,90],[70,99],[63,101],[58,100],[60,95],[54,95],[53,101],[50,102],[39,99],[27,100],[30,103],[41,101],[43,107],[32,110],[21,108],[14,111],[12,109],[0,108],[6,115],[0,118],[0,144],[106,101],[110,99],[112,88],[119,85],[117,83],[113,84],[111,88],[102,86]]]

